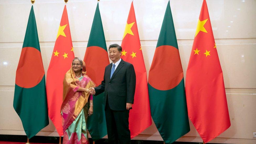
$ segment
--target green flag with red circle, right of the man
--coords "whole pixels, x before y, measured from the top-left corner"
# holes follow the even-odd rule
[[[170,2],[149,71],[148,92],[153,121],[166,143],[172,143],[190,131],[183,70]]]

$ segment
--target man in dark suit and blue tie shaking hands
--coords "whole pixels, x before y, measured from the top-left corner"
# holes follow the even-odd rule
[[[131,141],[128,119],[134,102],[136,75],[133,65],[120,58],[121,51],[118,44],[109,46],[109,58],[113,63],[106,66],[102,83],[90,88],[90,94],[98,95],[105,91],[105,117],[111,144],[128,144]]]

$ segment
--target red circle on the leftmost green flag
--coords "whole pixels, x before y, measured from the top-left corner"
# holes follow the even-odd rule
[[[44,74],[41,52],[34,47],[23,47],[15,84],[23,88],[32,88],[41,82]]]

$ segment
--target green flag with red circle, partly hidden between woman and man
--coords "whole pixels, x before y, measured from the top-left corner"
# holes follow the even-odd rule
[[[99,3],[93,18],[86,52],[84,55],[86,74],[99,86],[104,77],[105,67],[109,65],[108,51],[100,17]],[[88,117],[88,130],[93,141],[107,135],[104,110],[104,93],[93,97],[93,115]]]

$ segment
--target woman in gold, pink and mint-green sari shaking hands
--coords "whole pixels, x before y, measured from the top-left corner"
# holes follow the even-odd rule
[[[87,118],[88,115],[93,114],[93,97],[89,94],[90,87],[95,87],[95,84],[86,75],[85,63],[80,58],[74,58],[72,67],[63,80],[61,105],[63,144],[89,144]],[[88,105],[90,105],[89,109]]]

